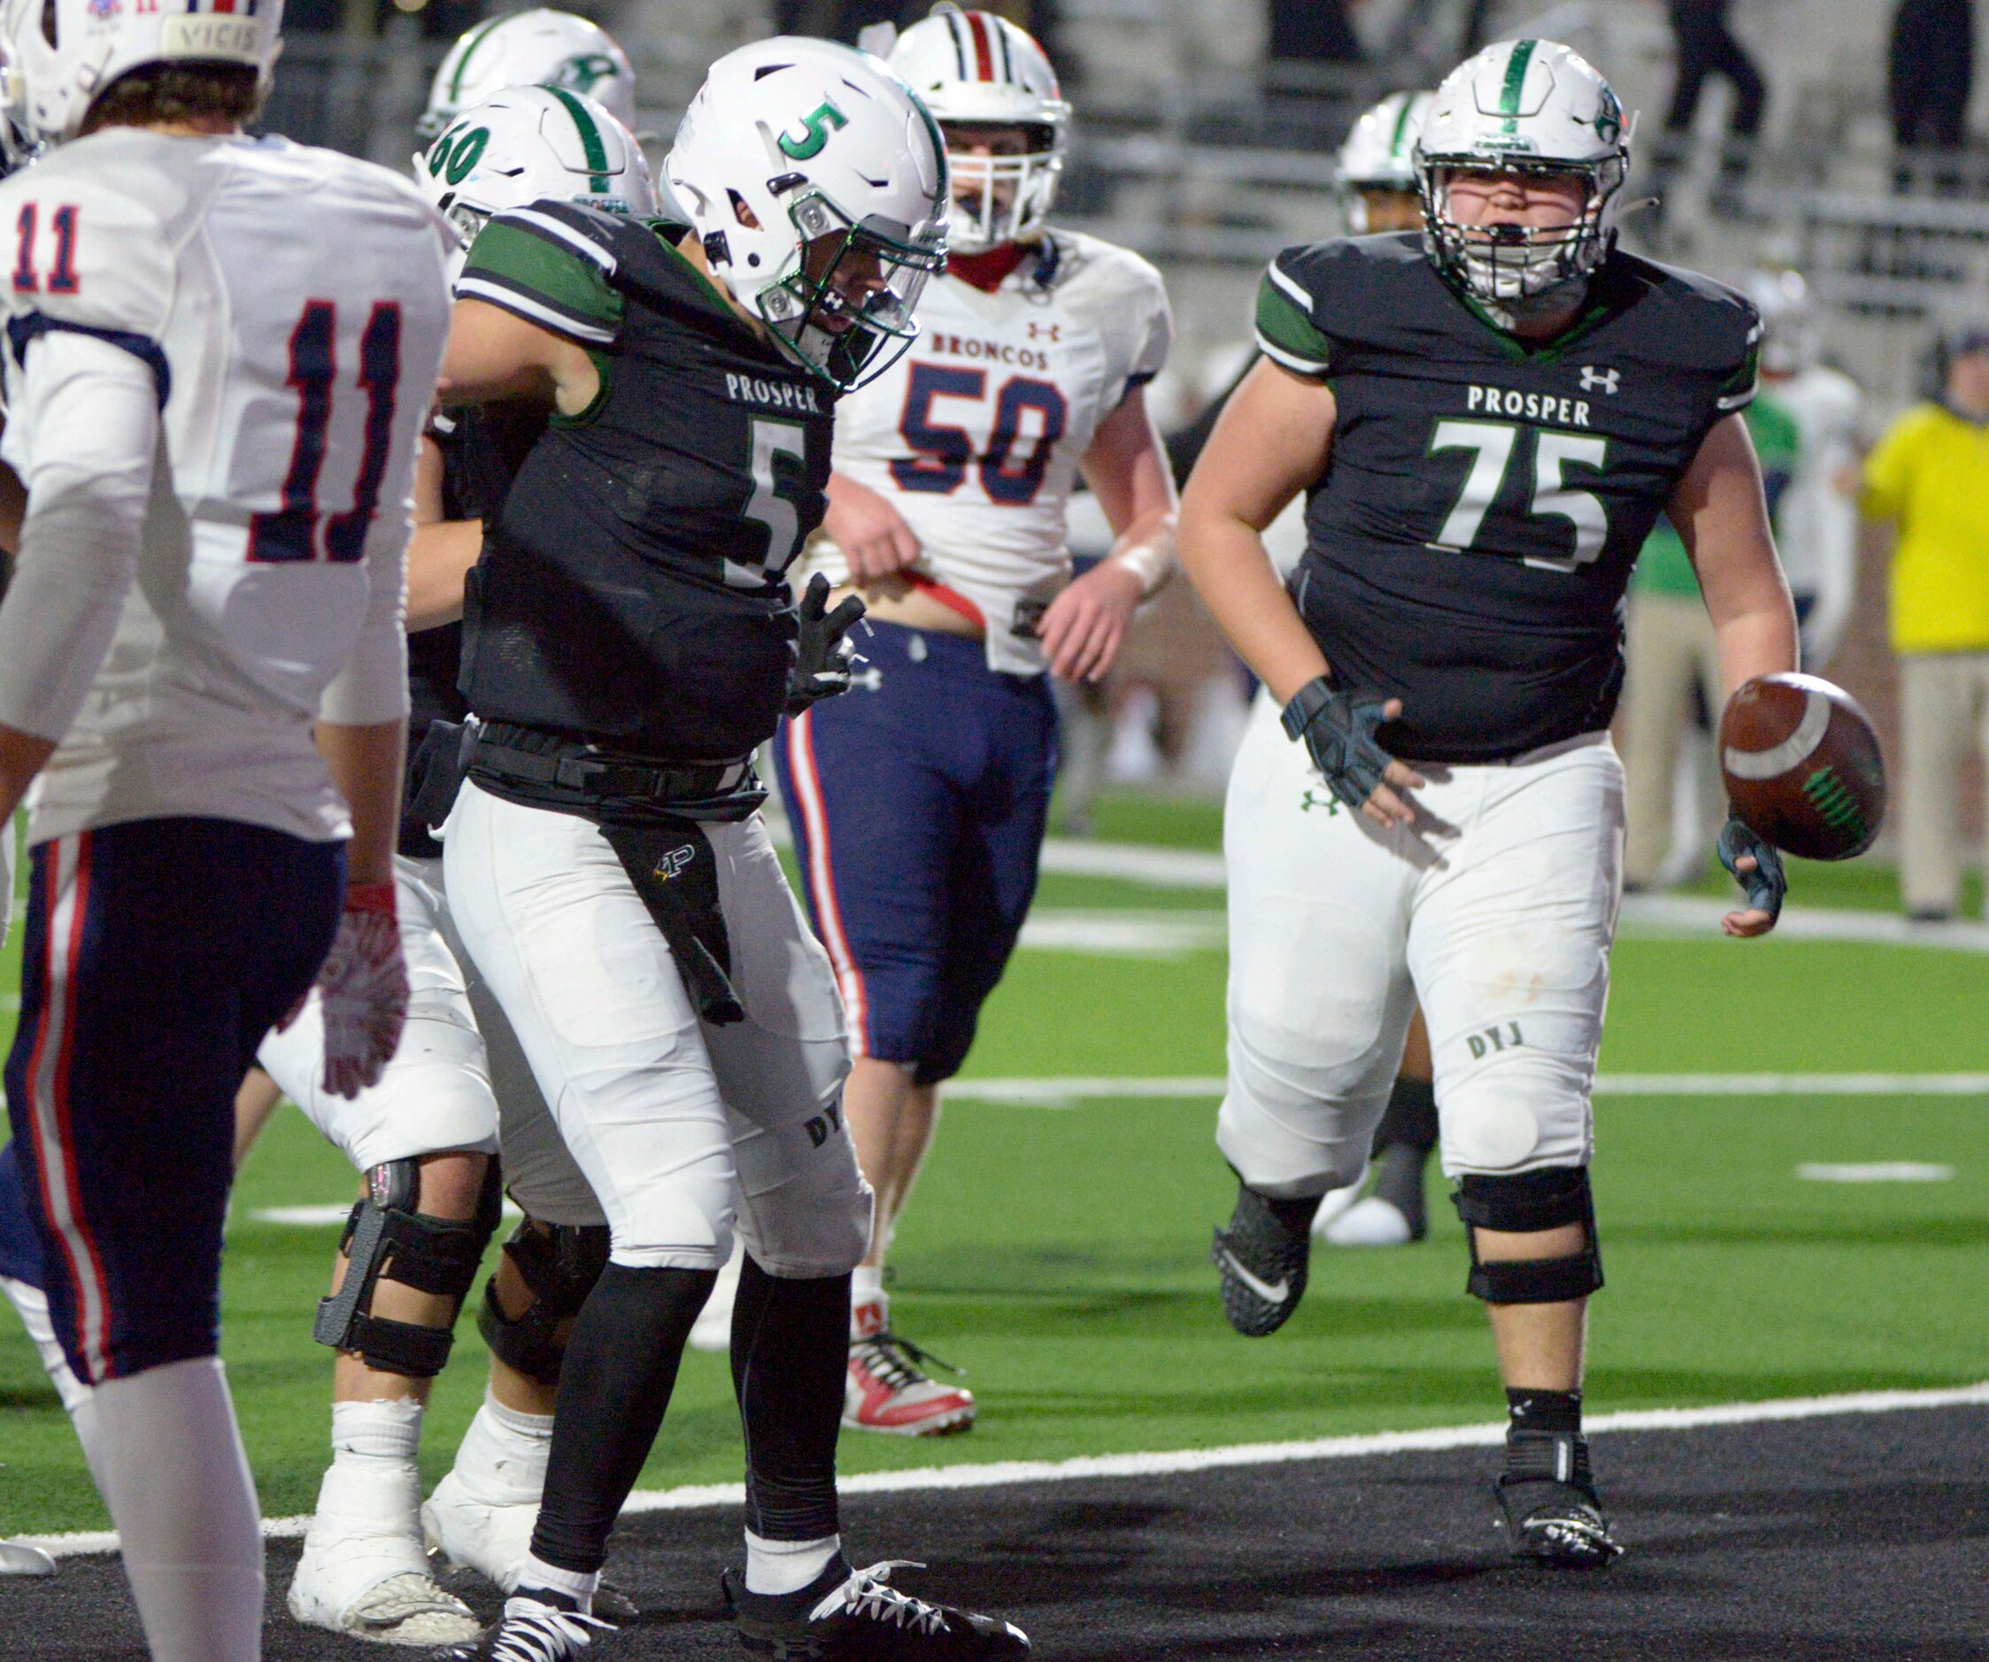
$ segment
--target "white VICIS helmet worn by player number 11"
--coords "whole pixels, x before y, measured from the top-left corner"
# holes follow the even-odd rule
[[[76,137],[90,105],[111,82],[147,64],[243,64],[269,93],[282,50],[282,0],[227,10],[189,0],[191,10],[139,10],[127,0],[6,0],[0,34],[12,48],[6,101],[30,143]]]

